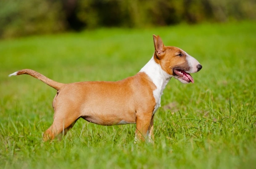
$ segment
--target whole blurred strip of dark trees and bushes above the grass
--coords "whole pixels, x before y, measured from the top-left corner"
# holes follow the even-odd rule
[[[0,0],[0,38],[256,19],[256,0]]]

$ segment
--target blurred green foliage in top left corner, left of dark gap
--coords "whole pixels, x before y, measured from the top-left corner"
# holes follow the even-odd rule
[[[57,0],[1,0],[0,38],[65,30]]]

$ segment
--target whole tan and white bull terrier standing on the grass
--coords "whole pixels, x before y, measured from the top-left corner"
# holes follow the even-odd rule
[[[194,82],[189,73],[202,66],[182,49],[164,46],[153,35],[155,52],[135,76],[117,82],[55,82],[31,69],[12,75],[29,74],[57,90],[53,100],[53,124],[45,131],[43,140],[66,133],[79,118],[99,125],[136,123],[136,140],[153,139],[153,118],[160,107],[161,95],[174,77],[182,83]]]

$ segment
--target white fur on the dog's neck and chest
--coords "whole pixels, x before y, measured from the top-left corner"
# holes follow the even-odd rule
[[[156,100],[155,110],[156,113],[158,107],[161,103],[161,95],[163,95],[163,90],[166,87],[172,75],[166,73],[159,64],[154,60],[154,56],[148,61],[148,63],[140,70],[140,72],[145,72],[148,77],[152,80],[154,85],[156,85],[156,90],[153,91],[154,98]]]

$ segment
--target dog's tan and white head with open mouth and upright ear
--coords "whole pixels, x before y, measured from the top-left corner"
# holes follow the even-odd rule
[[[161,68],[182,83],[194,82],[190,73],[198,72],[202,65],[182,49],[164,46],[160,36],[153,35],[155,53],[154,60]]]

